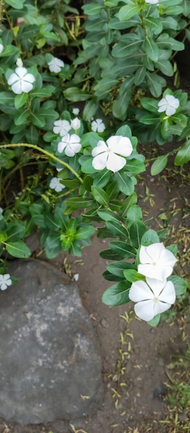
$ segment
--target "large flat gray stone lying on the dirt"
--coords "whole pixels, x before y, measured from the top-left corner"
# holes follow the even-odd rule
[[[102,400],[101,359],[78,288],[37,260],[17,260],[0,293],[0,416],[47,423],[92,415]]]

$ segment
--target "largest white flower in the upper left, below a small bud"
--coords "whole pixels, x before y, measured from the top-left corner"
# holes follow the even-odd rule
[[[34,75],[28,73],[26,68],[18,66],[8,79],[8,84],[14,93],[28,93],[33,89]]]

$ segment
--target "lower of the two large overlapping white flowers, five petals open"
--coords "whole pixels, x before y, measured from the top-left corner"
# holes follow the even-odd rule
[[[135,304],[135,313],[142,320],[152,320],[155,315],[164,313],[175,302],[175,288],[171,281],[146,278],[131,285],[129,299]]]

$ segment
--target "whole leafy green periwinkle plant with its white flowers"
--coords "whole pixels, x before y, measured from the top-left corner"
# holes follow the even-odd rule
[[[190,104],[175,87],[190,2],[75,3],[1,0],[0,288],[14,283],[8,255],[30,257],[32,232],[48,259],[81,256],[96,233],[113,239],[100,253],[115,282],[103,302],[131,300],[155,326],[187,284],[172,275],[178,251],[164,246],[167,229],[143,221],[137,144],[180,142],[155,158],[152,175],[169,155],[175,165],[190,159]]]

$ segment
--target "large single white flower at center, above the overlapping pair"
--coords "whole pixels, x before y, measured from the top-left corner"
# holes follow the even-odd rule
[[[126,164],[126,159],[122,156],[129,156],[133,151],[131,141],[127,137],[112,136],[108,138],[106,143],[100,140],[93,149],[93,167],[96,170],[102,170],[106,167],[114,173],[118,172]]]

